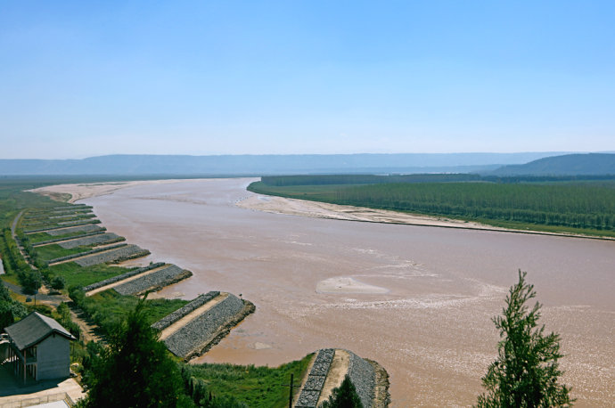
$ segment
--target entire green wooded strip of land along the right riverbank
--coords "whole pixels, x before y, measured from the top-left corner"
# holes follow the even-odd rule
[[[248,190],[512,229],[615,236],[615,176],[271,176]]]

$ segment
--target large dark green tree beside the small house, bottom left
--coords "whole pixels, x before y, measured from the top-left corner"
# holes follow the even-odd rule
[[[174,407],[183,399],[177,364],[146,321],[144,306],[143,298],[88,363],[87,407]]]

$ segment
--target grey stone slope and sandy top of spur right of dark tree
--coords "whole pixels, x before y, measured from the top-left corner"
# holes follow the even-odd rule
[[[237,314],[242,313],[243,308],[242,299],[229,294],[216,306],[211,307],[207,312],[170,335],[164,343],[171,353],[179,357],[187,358],[199,353],[203,347],[216,339],[219,331],[228,322],[233,321]]]

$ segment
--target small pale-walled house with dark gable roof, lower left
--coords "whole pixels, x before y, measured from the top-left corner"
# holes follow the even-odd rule
[[[70,375],[70,340],[59,322],[37,312],[4,328],[9,340],[8,362],[17,378],[58,379]]]

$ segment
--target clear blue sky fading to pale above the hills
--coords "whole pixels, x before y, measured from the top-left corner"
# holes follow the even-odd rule
[[[0,158],[615,150],[615,2],[0,0]]]

